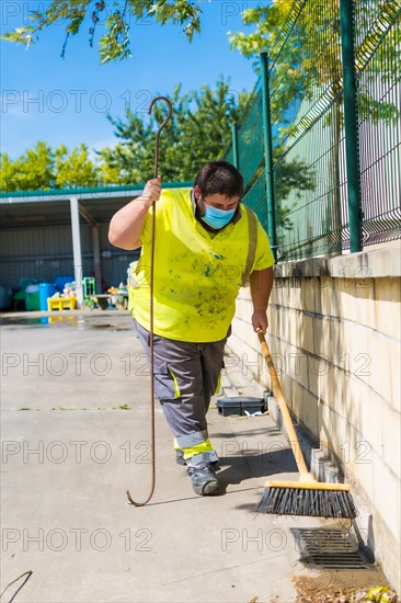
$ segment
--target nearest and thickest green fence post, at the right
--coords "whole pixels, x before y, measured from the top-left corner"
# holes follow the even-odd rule
[[[354,2],[340,0],[341,53],[344,81],[345,156],[348,192],[350,250],[362,250],[360,164],[355,76]]]

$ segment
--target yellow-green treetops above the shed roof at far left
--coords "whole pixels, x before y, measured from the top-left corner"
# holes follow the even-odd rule
[[[60,145],[53,151],[46,143],[39,141],[13,161],[7,153],[0,155],[1,191],[93,186],[99,180],[96,166],[84,145],[71,152]]]

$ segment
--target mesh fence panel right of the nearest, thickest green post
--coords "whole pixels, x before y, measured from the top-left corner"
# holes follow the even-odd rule
[[[356,76],[364,242],[370,244],[400,232],[401,2],[362,4]]]

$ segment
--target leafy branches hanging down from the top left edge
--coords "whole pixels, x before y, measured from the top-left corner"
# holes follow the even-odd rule
[[[42,5],[43,7],[43,5]],[[179,24],[191,42],[194,32],[200,31],[199,2],[188,0],[99,0],[93,8],[92,0],[51,0],[46,9],[31,11],[32,25],[21,26],[3,35],[3,39],[24,44],[27,48],[38,39],[46,27],[66,23],[66,38],[62,45],[64,57],[69,38],[89,23],[89,43],[93,46],[95,30],[105,21],[105,32],[100,38],[102,62],[124,59],[130,56],[129,23],[131,19],[141,21],[153,19],[162,25],[171,21]]]

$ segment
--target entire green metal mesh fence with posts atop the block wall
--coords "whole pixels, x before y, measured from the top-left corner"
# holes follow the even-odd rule
[[[261,61],[237,163],[278,261],[401,238],[400,16],[401,0],[295,0]]]

